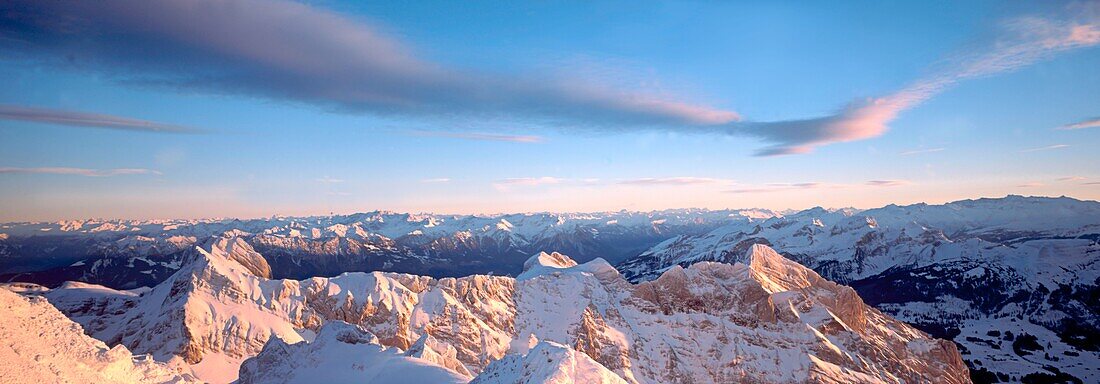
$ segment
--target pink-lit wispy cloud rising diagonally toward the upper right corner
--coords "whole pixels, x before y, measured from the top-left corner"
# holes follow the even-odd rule
[[[899,113],[958,83],[1012,72],[1060,52],[1100,44],[1100,21],[1096,14],[1100,12],[1078,12],[1082,20],[1011,20],[987,48],[954,56],[943,69],[893,94],[855,101],[820,118],[734,123],[734,131],[771,143],[756,153],[759,156],[809,153],[821,145],[876,138],[886,133]]]

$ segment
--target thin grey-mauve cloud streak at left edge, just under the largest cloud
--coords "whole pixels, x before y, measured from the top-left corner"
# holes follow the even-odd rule
[[[0,105],[0,119],[30,121],[44,124],[59,124],[81,128],[106,128],[124,131],[163,132],[163,133],[198,133],[200,130],[138,120],[110,114],[45,109],[23,106]]]

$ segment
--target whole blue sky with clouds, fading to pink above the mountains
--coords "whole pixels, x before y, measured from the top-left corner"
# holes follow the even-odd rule
[[[0,3],[0,221],[1100,199],[1100,2]]]

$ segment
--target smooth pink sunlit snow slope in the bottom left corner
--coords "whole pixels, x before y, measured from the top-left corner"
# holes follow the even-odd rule
[[[186,365],[107,347],[42,297],[0,288],[0,383],[198,383]]]

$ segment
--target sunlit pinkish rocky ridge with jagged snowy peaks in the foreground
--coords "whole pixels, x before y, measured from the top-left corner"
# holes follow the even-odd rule
[[[955,344],[763,245],[639,285],[603,260],[561,254],[532,256],[518,279],[287,281],[258,276],[263,264],[227,235],[153,289],[43,295],[91,336],[178,356],[211,382],[370,381],[388,366],[487,383],[969,382]]]

